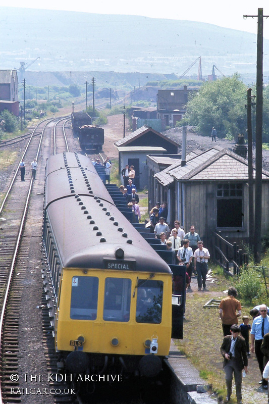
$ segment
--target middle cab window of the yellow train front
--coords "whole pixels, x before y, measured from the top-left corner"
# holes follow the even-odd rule
[[[127,322],[130,319],[131,279],[106,278],[103,319]]]

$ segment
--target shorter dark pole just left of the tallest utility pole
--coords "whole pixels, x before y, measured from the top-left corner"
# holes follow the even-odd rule
[[[254,199],[253,199],[253,156],[252,156],[252,120],[251,107],[255,95],[251,95],[252,89],[247,90],[247,150],[248,150],[248,216],[249,216],[249,246],[253,248],[254,229]]]

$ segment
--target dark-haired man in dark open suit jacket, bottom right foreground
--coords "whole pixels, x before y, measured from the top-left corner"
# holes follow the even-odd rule
[[[232,394],[233,373],[235,377],[237,403],[242,404],[242,370],[247,373],[247,348],[245,339],[239,336],[240,327],[236,324],[231,326],[231,334],[226,335],[221,346],[221,353],[224,357],[223,368],[227,386],[226,402],[230,401]]]

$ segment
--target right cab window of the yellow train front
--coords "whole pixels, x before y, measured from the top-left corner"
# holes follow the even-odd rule
[[[137,285],[136,322],[159,324],[162,322],[162,281],[140,279]]]

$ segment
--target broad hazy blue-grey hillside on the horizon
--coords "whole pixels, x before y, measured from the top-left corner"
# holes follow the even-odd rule
[[[199,56],[226,75],[255,71],[256,35],[191,21],[0,7],[1,69],[181,75]],[[264,66],[269,40],[264,40]],[[191,74],[197,74],[196,64]]]

